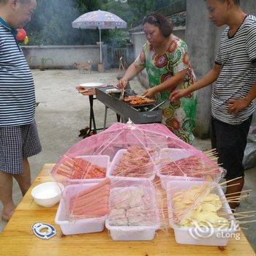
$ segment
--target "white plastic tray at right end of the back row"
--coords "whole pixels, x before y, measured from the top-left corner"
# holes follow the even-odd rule
[[[167,158],[170,157],[173,161],[177,161],[182,158],[191,157],[194,155],[195,152],[189,151],[187,149],[182,148],[162,148],[162,150],[157,155],[156,159],[159,160],[161,158]],[[177,180],[190,180],[190,181],[200,181],[202,178],[195,178],[195,177],[184,177],[184,176],[171,176],[171,175],[165,175],[161,174],[161,165],[156,166],[157,176],[160,178],[161,181],[161,187],[162,189],[166,189],[166,185],[168,181]]]

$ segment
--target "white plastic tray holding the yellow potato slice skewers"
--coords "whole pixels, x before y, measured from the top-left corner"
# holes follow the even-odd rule
[[[218,228],[214,227],[211,231],[212,235],[209,237],[208,233],[203,233],[202,236],[197,236],[198,230],[196,227],[178,227],[173,223],[173,214],[172,214],[172,200],[170,195],[171,187],[180,187],[180,189],[189,189],[193,185],[196,184],[203,184],[203,181],[168,181],[167,182],[167,206],[168,206],[168,216],[169,216],[169,224],[170,227],[173,227],[175,240],[178,244],[195,244],[195,245],[207,245],[207,246],[226,246],[229,238],[232,234],[236,233],[236,226],[230,227],[226,230],[219,230]],[[177,190],[178,191],[178,190]],[[232,215],[232,211],[230,209],[229,204],[225,200],[224,192],[222,188],[217,185],[217,189],[214,190],[219,197],[222,198],[222,205],[221,211],[230,215],[226,215],[225,217],[228,219],[233,219],[234,222],[235,218]],[[189,231],[190,230],[190,231]],[[189,233],[190,232],[190,233]],[[219,237],[219,234],[223,232],[222,237]],[[194,237],[191,235],[194,234]]]

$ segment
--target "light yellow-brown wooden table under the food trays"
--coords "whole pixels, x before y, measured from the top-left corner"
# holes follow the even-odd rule
[[[158,231],[153,241],[113,241],[108,230],[102,233],[64,236],[59,226],[54,223],[56,209],[37,206],[31,198],[31,189],[37,184],[51,181],[53,164],[42,167],[29,192],[15,210],[10,222],[0,234],[0,255],[255,255],[244,233],[241,240],[230,239],[224,248],[217,246],[189,246],[176,244],[173,230],[165,234]],[[45,222],[54,225],[56,236],[50,240],[42,240],[34,236],[31,225],[34,222]]]

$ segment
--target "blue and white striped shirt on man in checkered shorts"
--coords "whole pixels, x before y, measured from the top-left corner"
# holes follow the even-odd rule
[[[34,80],[16,34],[0,18],[0,127],[34,120]]]

